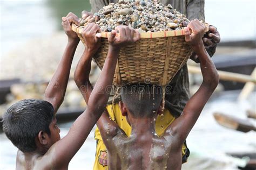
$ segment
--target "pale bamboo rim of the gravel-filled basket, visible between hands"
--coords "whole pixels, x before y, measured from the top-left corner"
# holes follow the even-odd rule
[[[209,24],[204,23],[206,26],[205,32],[209,31]],[[72,24],[72,30],[76,33],[82,34],[83,28],[77,26],[76,24]],[[102,38],[107,38],[110,35],[110,32],[101,32]],[[171,30],[171,31],[158,31],[158,32],[145,32],[140,33],[140,39],[147,39],[147,38],[166,38],[166,37],[176,37],[176,36],[184,36],[185,30]]]

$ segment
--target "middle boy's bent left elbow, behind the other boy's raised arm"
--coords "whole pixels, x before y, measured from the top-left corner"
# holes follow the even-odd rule
[[[75,70],[74,79],[79,88],[81,94],[84,97],[86,103],[89,101],[91,91],[93,89],[91,82],[89,80],[89,75],[91,72],[91,60],[93,53],[85,50],[82,57],[80,58],[77,68]]]

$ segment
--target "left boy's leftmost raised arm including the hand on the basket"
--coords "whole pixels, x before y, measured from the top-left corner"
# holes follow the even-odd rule
[[[71,63],[79,43],[77,34],[71,30],[70,26],[71,23],[78,24],[78,17],[73,13],[69,13],[68,16],[63,17],[62,20],[63,29],[68,36],[68,44],[44,94],[44,100],[53,105],[55,114],[64,100],[66,86],[69,81]]]

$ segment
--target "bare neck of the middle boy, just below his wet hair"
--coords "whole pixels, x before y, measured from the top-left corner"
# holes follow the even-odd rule
[[[130,119],[131,123],[131,136],[139,137],[144,135],[155,135],[156,134],[156,118],[133,118]]]

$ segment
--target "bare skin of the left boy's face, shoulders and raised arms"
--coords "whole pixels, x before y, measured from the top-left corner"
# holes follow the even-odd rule
[[[64,31],[68,36],[68,45],[66,46],[55,74],[46,88],[44,98],[45,101],[52,104],[55,113],[63,102],[73,55],[75,54],[79,42],[77,34],[71,29],[71,23],[78,23],[78,17],[73,15],[73,13],[69,13],[68,16],[63,17],[62,20]],[[99,26],[96,24],[90,26],[93,27],[95,31],[100,31]],[[87,34],[88,31],[86,31],[86,29],[91,30],[91,27],[85,27],[83,34]],[[98,43],[100,42],[100,39],[96,39],[95,34],[91,36]],[[114,39],[115,36],[112,35],[110,37]],[[127,41],[113,42],[113,44],[119,45],[120,42]],[[53,118],[49,125],[51,134],[41,130],[35,137],[35,151],[18,151],[16,169],[68,169],[69,162],[84,144],[93,126],[95,126],[105,109],[109,98],[109,92],[105,91],[105,88],[111,86],[113,82],[115,68],[112,66],[116,65],[117,58],[118,51],[116,51],[116,46],[113,46],[107,53],[102,73],[99,75],[95,90],[91,91],[91,98],[87,102],[86,110],[72,124],[68,134],[60,139],[60,131],[56,125],[56,119]]]

